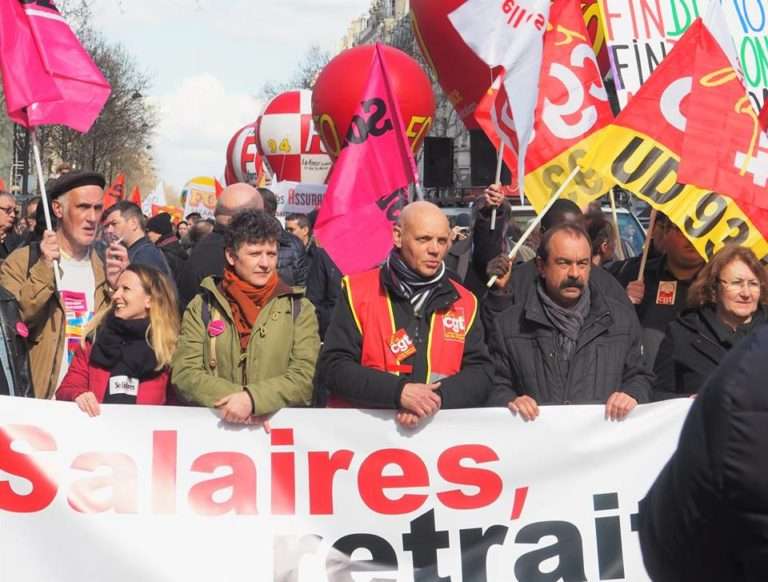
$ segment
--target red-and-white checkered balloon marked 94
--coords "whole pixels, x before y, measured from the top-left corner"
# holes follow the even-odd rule
[[[278,181],[323,184],[331,169],[312,121],[311,91],[287,91],[267,103],[256,121],[256,143]]]

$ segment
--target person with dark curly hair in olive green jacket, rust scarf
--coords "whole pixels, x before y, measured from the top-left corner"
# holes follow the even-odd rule
[[[312,400],[317,318],[303,291],[277,275],[279,228],[263,211],[236,215],[224,277],[207,277],[184,313],[173,383],[184,400],[230,422]]]

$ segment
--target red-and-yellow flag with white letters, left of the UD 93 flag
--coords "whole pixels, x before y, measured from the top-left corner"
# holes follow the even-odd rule
[[[525,159],[525,195],[537,212],[613,119],[579,0],[555,0],[550,14],[533,138]],[[506,83],[494,93],[495,86],[478,105],[475,118],[497,148],[499,139],[504,142],[504,161],[512,168],[517,157],[515,124]],[[585,208],[611,186],[613,182],[597,172],[579,172],[562,196]]]

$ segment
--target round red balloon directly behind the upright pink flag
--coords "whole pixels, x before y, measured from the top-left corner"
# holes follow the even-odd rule
[[[345,50],[328,63],[312,91],[312,116],[325,149],[336,159],[352,118],[365,92],[375,46]],[[432,83],[414,59],[390,46],[382,46],[392,92],[403,116],[414,153],[424,143],[435,114]]]

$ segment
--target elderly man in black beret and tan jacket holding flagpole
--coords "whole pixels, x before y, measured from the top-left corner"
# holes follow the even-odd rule
[[[49,208],[54,230],[46,230],[39,243],[15,250],[0,268],[0,285],[16,297],[26,324],[20,333],[29,335],[38,398],[53,397],[84,327],[109,303],[128,264],[122,245],[107,249],[106,264],[92,248],[104,209],[104,183],[101,174],[83,171],[53,182]]]

